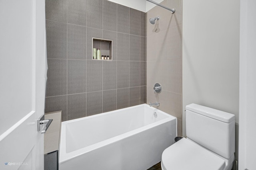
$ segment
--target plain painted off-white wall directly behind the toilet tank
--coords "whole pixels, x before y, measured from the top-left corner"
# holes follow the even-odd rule
[[[240,0],[183,0],[183,135],[191,103],[235,114],[237,128],[239,18]]]

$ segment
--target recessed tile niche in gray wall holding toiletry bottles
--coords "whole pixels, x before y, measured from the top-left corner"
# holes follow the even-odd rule
[[[112,40],[109,39],[100,39],[100,38],[92,38],[92,59],[97,60],[97,52],[96,52],[96,59],[93,57],[93,49],[100,49],[100,60],[102,55],[109,56],[109,59],[112,60]]]

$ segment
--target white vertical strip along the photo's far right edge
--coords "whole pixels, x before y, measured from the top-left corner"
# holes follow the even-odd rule
[[[241,1],[239,169],[255,169],[256,152],[256,1]]]

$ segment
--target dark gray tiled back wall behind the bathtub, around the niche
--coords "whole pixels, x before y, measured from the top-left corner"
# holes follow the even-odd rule
[[[62,121],[146,102],[146,13],[108,0],[46,0],[45,112]],[[92,37],[112,61],[92,60]],[[171,82],[170,82],[171,83]]]

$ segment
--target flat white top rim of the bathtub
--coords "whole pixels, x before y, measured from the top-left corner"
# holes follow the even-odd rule
[[[111,138],[106,139],[104,141],[100,141],[100,142],[95,143],[93,145],[89,145],[87,147],[74,150],[72,152],[68,152],[68,153],[66,152],[66,124],[67,123],[75,122],[75,121],[79,121],[79,120],[83,120],[83,119],[89,119],[91,117],[97,117],[97,116],[100,116],[100,115],[107,115],[107,114],[114,113],[114,112],[117,112],[117,111],[126,110],[128,108],[136,108],[136,107],[142,107],[142,106],[143,107],[148,107],[148,108],[152,109],[153,111],[158,111],[158,113],[162,113],[162,114],[166,115],[167,118],[156,121],[154,123],[150,123],[150,124],[145,125],[145,126],[142,126],[138,129],[128,131],[128,132],[123,133],[121,135],[111,137]],[[151,128],[156,127],[158,125],[164,124],[168,121],[174,121],[174,120],[176,121],[176,126],[177,126],[178,122],[177,122],[176,117],[174,117],[172,115],[169,115],[168,113],[165,113],[164,111],[156,109],[155,107],[150,107],[148,104],[140,104],[140,105],[136,105],[136,106],[126,107],[126,108],[123,108],[123,109],[117,109],[117,110],[114,110],[114,111],[108,111],[108,112],[105,112],[105,113],[99,113],[99,114],[91,115],[91,116],[88,116],[88,117],[82,117],[82,118],[78,118],[78,119],[72,119],[72,120],[69,120],[69,121],[64,121],[64,122],[62,122],[62,126],[61,126],[59,164],[67,162],[68,160],[76,158],[77,156],[80,156],[82,154],[86,154],[87,152],[91,152],[92,150],[95,150],[95,149],[98,149],[100,147],[104,147],[106,145],[109,145],[110,143],[120,141],[122,139],[130,137],[131,135],[138,134],[138,133],[140,133],[142,131],[145,131],[147,129],[151,129]],[[65,135],[63,135],[63,134],[65,134]],[[177,128],[176,128],[176,136],[177,136]]]

